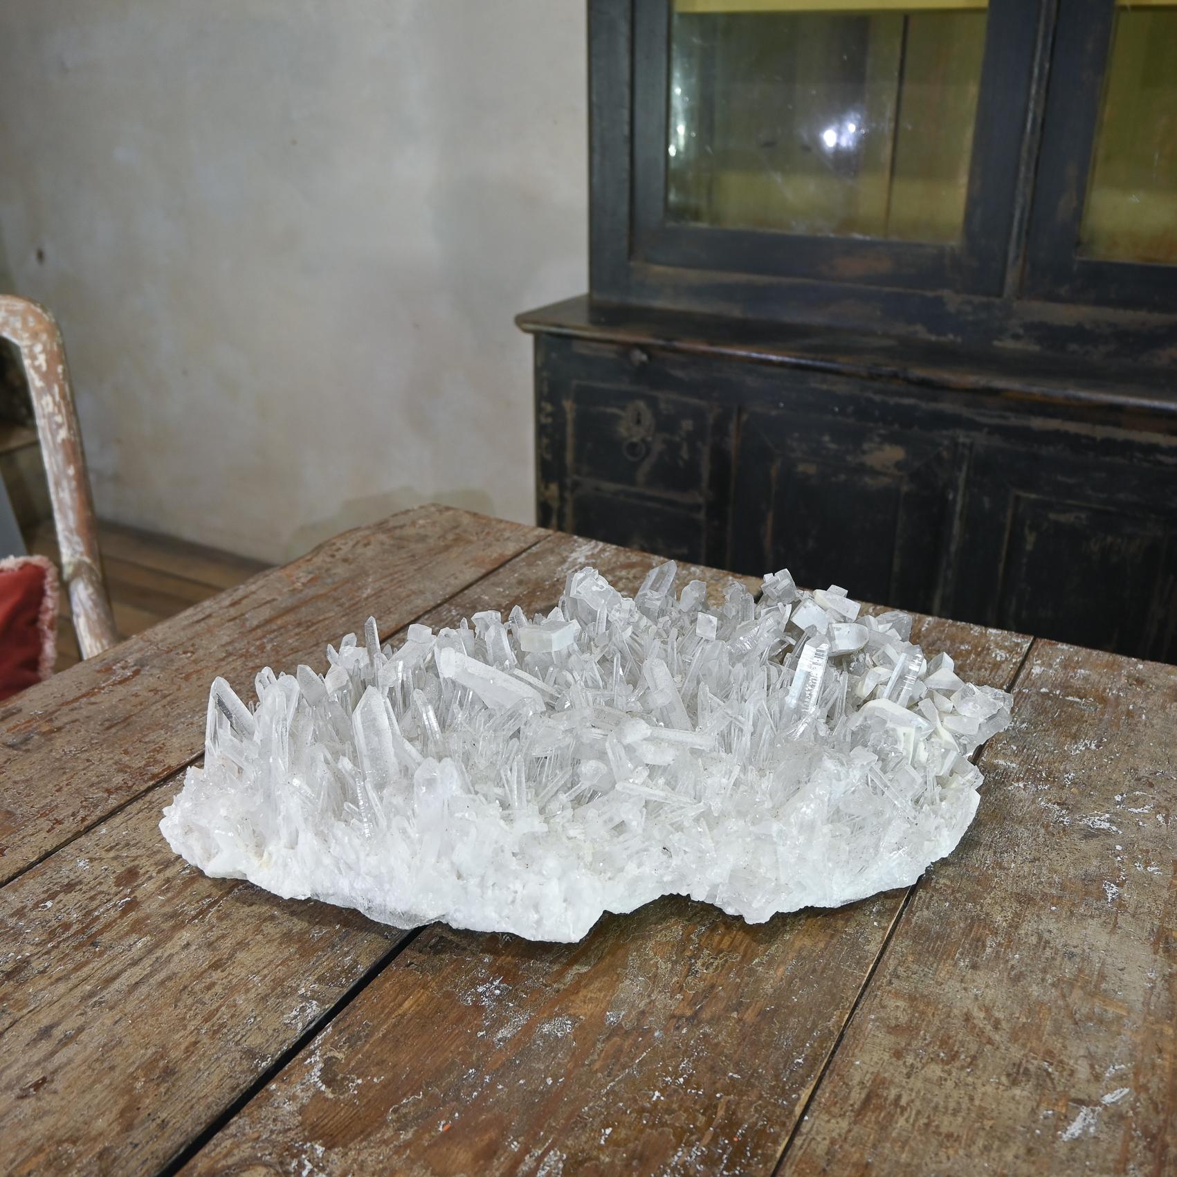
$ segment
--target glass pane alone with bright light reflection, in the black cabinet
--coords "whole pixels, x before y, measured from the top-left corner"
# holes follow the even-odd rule
[[[985,0],[671,4],[671,219],[959,238]]]

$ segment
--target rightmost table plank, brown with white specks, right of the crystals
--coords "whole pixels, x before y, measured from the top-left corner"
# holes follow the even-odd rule
[[[784,1173],[1177,1171],[1177,667],[1036,643],[1015,718]]]

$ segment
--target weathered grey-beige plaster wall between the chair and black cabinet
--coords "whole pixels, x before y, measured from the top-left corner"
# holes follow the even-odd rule
[[[281,559],[531,521],[516,312],[586,286],[583,0],[0,0],[0,257],[100,513]]]

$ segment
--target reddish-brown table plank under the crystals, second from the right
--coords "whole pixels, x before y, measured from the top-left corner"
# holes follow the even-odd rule
[[[919,637],[998,685],[1029,647]],[[759,926],[669,898],[573,945],[435,925],[186,1171],[771,1172],[905,895]]]

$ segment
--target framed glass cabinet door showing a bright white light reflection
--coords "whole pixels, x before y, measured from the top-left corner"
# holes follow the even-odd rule
[[[1000,292],[1039,0],[632,12],[632,261]]]

